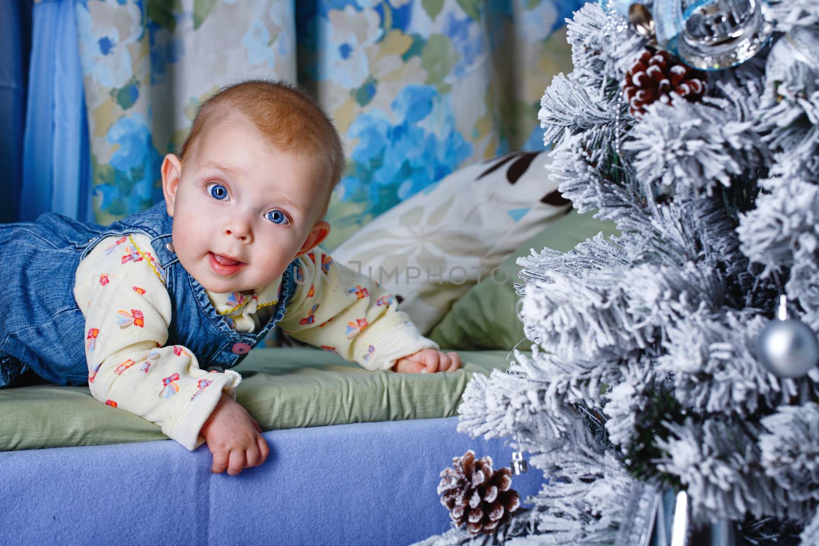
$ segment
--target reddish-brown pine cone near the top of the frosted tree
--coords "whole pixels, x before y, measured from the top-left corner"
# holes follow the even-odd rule
[[[628,100],[631,115],[639,117],[645,106],[654,101],[671,102],[670,93],[699,101],[705,93],[705,73],[684,65],[667,52],[654,54],[645,50],[626,73],[622,90]]]

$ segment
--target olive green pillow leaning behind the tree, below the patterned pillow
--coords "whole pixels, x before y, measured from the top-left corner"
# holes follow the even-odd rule
[[[523,323],[516,312],[519,296],[515,294],[514,283],[523,280],[518,277],[521,266],[515,262],[520,256],[530,255],[532,248],[536,252],[544,248],[565,252],[599,232],[606,236],[618,233],[613,222],[595,219],[592,214],[570,210],[523,243],[498,266],[494,278],[482,279],[456,300],[427,337],[441,347],[455,350],[511,350],[521,341],[518,349],[528,349]]]

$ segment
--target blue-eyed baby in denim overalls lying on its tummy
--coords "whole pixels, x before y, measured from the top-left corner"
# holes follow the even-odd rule
[[[0,318],[0,386],[26,368],[88,381],[186,448],[206,442],[212,471],[235,475],[269,449],[227,368],[274,325],[369,370],[458,369],[378,282],[319,248],[343,169],[310,97],[247,81],[202,104],[165,156],[164,202],[108,227],[57,214],[0,226],[0,282],[16,300]]]

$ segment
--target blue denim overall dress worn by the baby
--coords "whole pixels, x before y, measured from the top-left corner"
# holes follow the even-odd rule
[[[74,299],[75,273],[97,242],[140,232],[151,237],[165,268],[171,322],[166,345],[184,345],[202,369],[233,368],[284,315],[296,288],[296,260],[287,266],[278,304],[260,332],[236,332],[217,314],[205,288],[179,264],[173,252],[173,219],[160,202],[107,228],[60,214],[34,222],[0,224],[0,388],[15,386],[28,369],[57,385],[88,382],[85,317]]]

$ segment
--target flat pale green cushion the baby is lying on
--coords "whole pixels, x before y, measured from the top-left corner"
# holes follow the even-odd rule
[[[463,353],[446,373],[368,372],[313,347],[256,349],[234,368],[236,399],[262,430],[450,417],[473,372],[505,368],[504,351]],[[0,390],[0,451],[165,440],[159,426],[93,399],[87,386]]]

